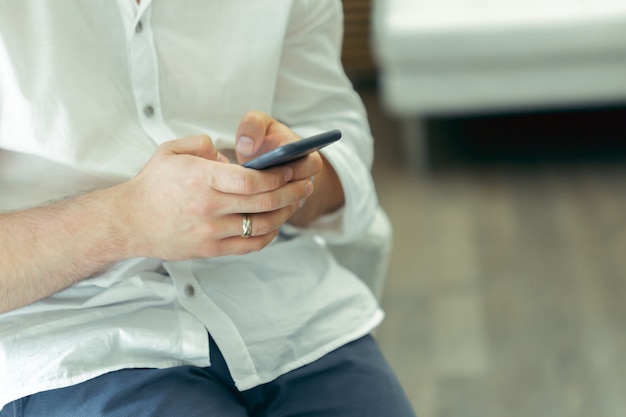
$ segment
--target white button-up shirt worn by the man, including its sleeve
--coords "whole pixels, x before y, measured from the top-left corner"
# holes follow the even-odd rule
[[[341,129],[324,153],[346,196],[260,252],[129,259],[0,315],[0,407],[121,368],[208,366],[207,332],[245,390],[380,322],[322,241],[363,232],[377,204],[341,17],[334,0],[0,2],[0,211],[127,180],[177,137],[232,148],[251,109],[301,136]]]

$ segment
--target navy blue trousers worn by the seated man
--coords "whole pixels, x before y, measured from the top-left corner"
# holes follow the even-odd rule
[[[239,392],[217,346],[211,366],[125,369],[8,404],[0,417],[409,417],[411,405],[371,336]]]

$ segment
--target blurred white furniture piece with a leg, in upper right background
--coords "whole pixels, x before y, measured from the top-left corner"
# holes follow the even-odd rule
[[[405,121],[626,102],[624,0],[374,0],[382,99]]]

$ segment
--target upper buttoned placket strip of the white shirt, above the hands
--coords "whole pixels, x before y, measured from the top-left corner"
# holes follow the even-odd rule
[[[149,2],[140,7],[129,35],[130,75],[141,128],[156,143],[174,139],[166,125],[159,89],[159,65]]]

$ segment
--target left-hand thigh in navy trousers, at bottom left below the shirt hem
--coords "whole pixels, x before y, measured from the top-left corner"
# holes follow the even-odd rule
[[[191,366],[111,372],[22,398],[5,409],[0,417],[248,416],[228,388]]]

